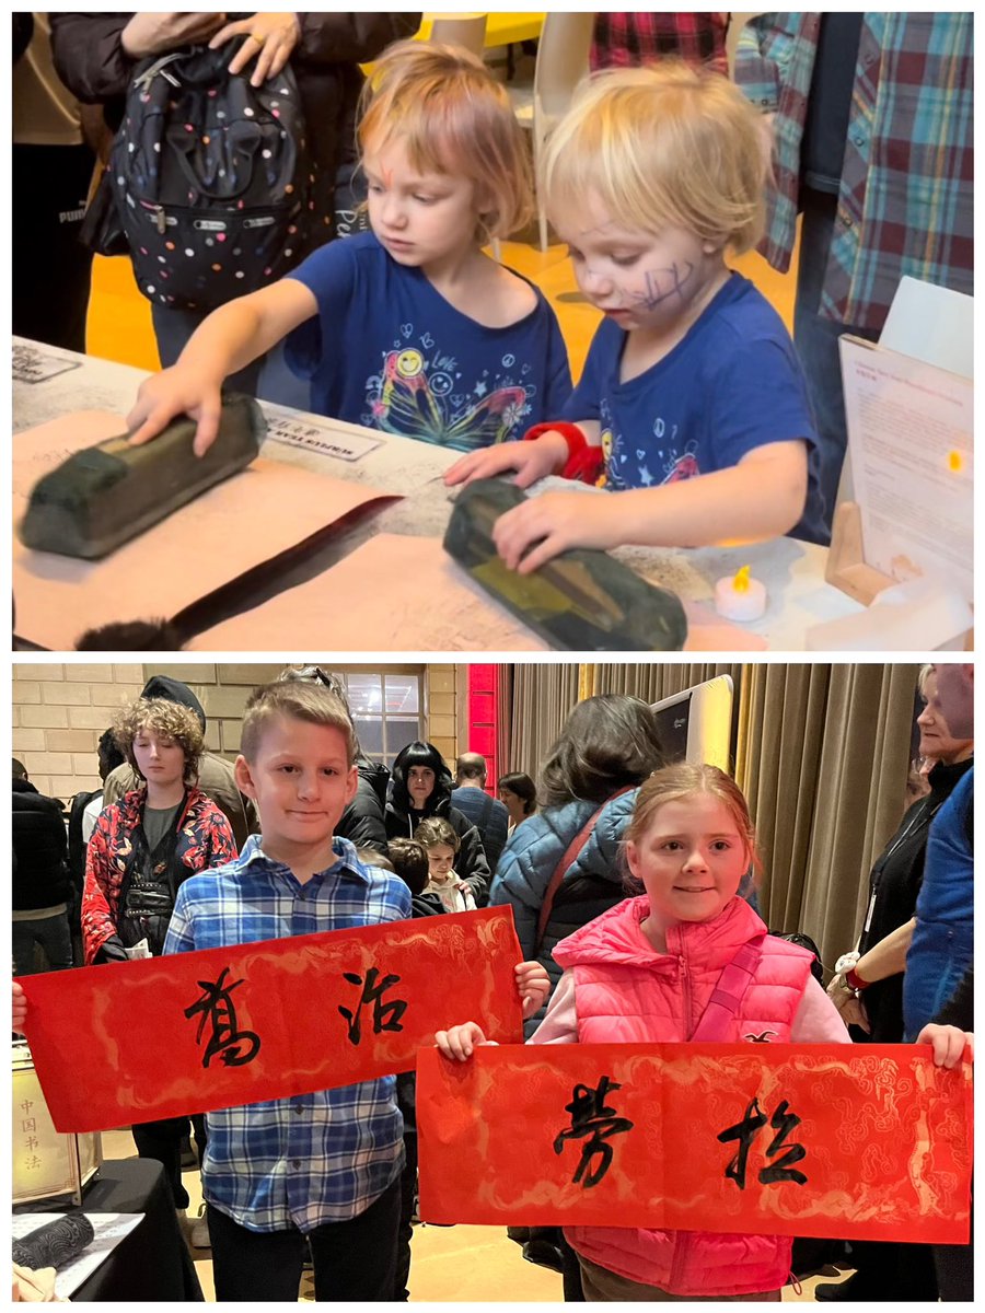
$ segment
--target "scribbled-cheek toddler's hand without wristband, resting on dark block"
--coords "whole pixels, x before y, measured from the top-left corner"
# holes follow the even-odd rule
[[[492,541],[510,570],[529,574],[569,548],[619,546],[625,541],[619,511],[617,494],[545,492],[500,515]]]

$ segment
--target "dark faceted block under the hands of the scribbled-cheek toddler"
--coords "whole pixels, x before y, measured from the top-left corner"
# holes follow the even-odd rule
[[[514,483],[469,483],[452,511],[445,551],[561,651],[679,651],[684,646],[687,617],[676,593],[646,583],[604,551],[575,548],[532,574],[508,570],[492,542],[492,527],[524,500]]]

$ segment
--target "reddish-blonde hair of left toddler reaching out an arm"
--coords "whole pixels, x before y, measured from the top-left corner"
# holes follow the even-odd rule
[[[510,236],[533,213],[529,154],[510,97],[462,47],[390,46],[362,88],[357,138],[360,159],[399,142],[419,172],[469,179],[479,240]]]

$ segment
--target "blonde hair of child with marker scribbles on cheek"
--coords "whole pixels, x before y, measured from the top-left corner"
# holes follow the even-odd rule
[[[758,119],[728,77],[678,60],[596,74],[548,140],[548,211],[577,214],[595,193],[621,226],[683,228],[741,255],[764,223]]]

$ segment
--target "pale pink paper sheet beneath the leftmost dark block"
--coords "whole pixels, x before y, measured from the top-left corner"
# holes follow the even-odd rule
[[[125,428],[118,415],[84,411],[18,433],[13,442],[14,529],[42,474],[72,452]],[[101,561],[29,551],[14,532],[17,633],[64,650],[96,625],[169,620],[380,495],[385,494],[257,460]]]

